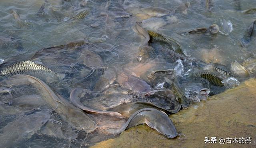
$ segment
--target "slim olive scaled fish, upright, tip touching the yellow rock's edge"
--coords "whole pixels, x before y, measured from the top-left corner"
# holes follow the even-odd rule
[[[174,93],[174,96],[176,97],[177,101],[180,102],[182,108],[183,109],[188,108],[189,102],[188,102],[186,96],[183,94],[181,88],[174,82],[172,82],[170,87],[171,87],[171,90]]]

